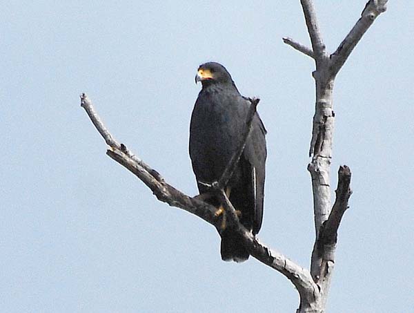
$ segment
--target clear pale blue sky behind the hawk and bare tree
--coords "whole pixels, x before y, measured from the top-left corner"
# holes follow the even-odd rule
[[[365,3],[316,1],[328,50]],[[414,307],[413,11],[390,0],[336,80],[332,184],[347,164],[354,193],[329,312]],[[195,195],[194,77],[224,64],[262,99],[259,238],[308,267],[314,64],[284,36],[309,42],[299,1],[3,1],[0,312],[295,312],[284,276],[253,258],[222,262],[215,229],[108,158],[79,106],[88,93],[120,142]]]

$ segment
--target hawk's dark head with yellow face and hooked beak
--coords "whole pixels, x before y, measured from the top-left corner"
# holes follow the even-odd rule
[[[195,83],[201,82],[203,86],[209,84],[234,84],[230,73],[224,66],[216,62],[201,64],[195,75]]]

